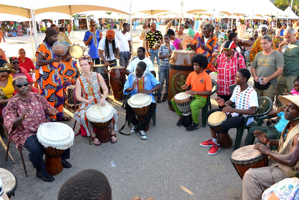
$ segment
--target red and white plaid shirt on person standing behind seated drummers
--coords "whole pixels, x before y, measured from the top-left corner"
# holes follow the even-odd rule
[[[239,59],[237,54],[239,54]],[[228,59],[224,53],[220,54],[217,57],[217,69],[214,66],[212,68],[217,71],[217,94],[231,95],[229,85],[235,83],[238,70],[246,68],[246,65],[242,54],[234,51],[234,56],[231,59]]]

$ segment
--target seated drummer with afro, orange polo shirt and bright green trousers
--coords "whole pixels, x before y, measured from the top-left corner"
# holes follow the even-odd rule
[[[194,72],[191,72],[188,75],[186,83],[181,86],[183,90],[187,90],[186,93],[192,94],[194,96],[193,101],[190,104],[193,122],[186,128],[186,131],[195,131],[199,129],[199,109],[205,106],[208,95],[212,93],[211,77],[204,70],[208,66],[207,57],[202,54],[196,54],[192,57],[191,62],[193,64]],[[190,86],[191,89],[188,90]],[[180,116],[180,119],[176,125],[181,126],[183,125],[183,114],[173,99],[171,99],[171,103],[176,111],[176,114]]]

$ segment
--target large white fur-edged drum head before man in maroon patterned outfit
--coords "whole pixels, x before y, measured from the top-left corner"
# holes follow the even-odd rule
[[[42,124],[37,130],[38,141],[45,146],[65,150],[74,142],[74,131],[71,127],[60,122],[48,122]]]

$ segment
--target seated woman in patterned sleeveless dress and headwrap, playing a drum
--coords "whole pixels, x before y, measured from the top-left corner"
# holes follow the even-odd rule
[[[80,125],[83,125],[87,136],[91,135],[93,143],[98,146],[101,142],[94,133],[91,123],[86,118],[86,111],[96,103],[100,105],[110,105],[105,100],[108,95],[108,88],[102,75],[97,72],[91,72],[90,68],[91,65],[93,65],[91,57],[84,55],[79,59],[79,63],[83,74],[79,76],[76,82],[76,98],[82,103],[80,108],[75,112],[74,118]],[[103,96],[100,93],[100,87],[103,90]],[[112,122],[110,124],[111,143],[116,143],[115,131],[117,131],[118,113],[112,106],[111,109],[114,111]]]

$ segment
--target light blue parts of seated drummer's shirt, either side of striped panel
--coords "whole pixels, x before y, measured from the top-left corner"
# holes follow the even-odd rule
[[[126,92],[126,89],[131,88],[133,86],[133,82],[136,80],[136,76],[134,73],[129,74],[128,79],[123,87],[123,94],[127,95],[131,93],[131,96],[138,93],[138,86],[136,85],[135,90],[131,92]],[[144,90],[152,90],[156,85],[161,84],[154,75],[150,72],[145,72],[144,75]],[[148,94],[152,97],[152,103],[156,103],[154,96],[152,93]]]

